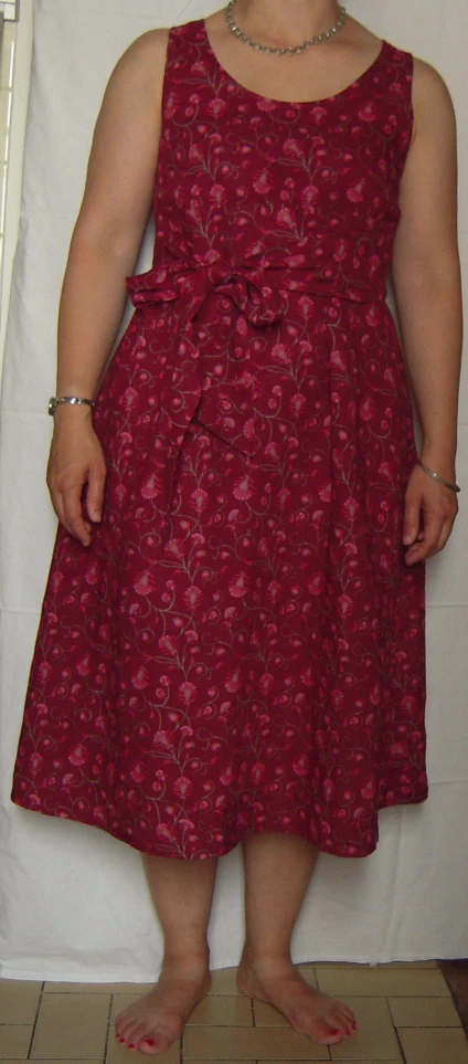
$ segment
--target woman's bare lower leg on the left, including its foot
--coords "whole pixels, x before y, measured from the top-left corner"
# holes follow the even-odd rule
[[[217,857],[181,861],[142,854],[164,935],[156,987],[115,1021],[116,1036],[143,1053],[162,1053],[179,1037],[187,1016],[211,987],[208,923]]]

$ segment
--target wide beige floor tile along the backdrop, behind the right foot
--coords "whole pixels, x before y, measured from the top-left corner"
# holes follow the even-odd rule
[[[385,971],[374,968],[372,971],[331,971],[317,969],[317,980],[320,990],[329,994],[351,993],[371,997],[407,997],[407,998],[449,998],[450,991],[442,971],[432,968],[418,968],[402,971],[393,968]]]

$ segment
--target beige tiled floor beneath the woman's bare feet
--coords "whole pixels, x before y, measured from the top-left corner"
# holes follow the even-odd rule
[[[193,1010],[161,1064],[267,1064],[359,1061],[468,1064],[468,1041],[436,961],[299,965],[311,986],[352,1008],[359,1033],[337,1045],[297,1034],[272,1005],[240,993],[235,968],[213,972],[211,993]],[[143,1055],[114,1036],[114,1016],[149,986],[0,982],[0,1061],[129,1064]]]

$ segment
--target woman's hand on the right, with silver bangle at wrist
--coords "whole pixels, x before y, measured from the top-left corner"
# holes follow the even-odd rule
[[[429,457],[424,454],[421,455],[421,459],[425,465],[437,472],[444,480],[455,484],[453,465],[445,465],[442,468],[440,461],[436,464],[435,460],[429,461]],[[421,514],[423,514],[423,528],[419,527]],[[440,481],[429,476],[421,465],[415,465],[411,472],[405,493],[403,541],[405,547],[411,544],[405,554],[406,565],[424,561],[443,550],[457,514],[457,493],[450,487],[446,487],[445,484],[440,484]],[[406,536],[410,536],[410,539],[406,539]]]

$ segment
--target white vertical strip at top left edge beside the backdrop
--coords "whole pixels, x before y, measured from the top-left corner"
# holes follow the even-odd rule
[[[22,0],[19,21],[4,22],[0,56],[0,372],[3,362],[7,310],[20,222],[32,24],[33,0]]]

